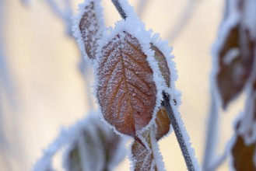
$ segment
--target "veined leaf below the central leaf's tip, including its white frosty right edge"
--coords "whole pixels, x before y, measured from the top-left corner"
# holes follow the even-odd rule
[[[142,141],[146,147],[138,141],[132,142],[132,169],[135,171],[165,170],[163,162],[160,162],[162,161],[162,157],[156,143],[154,129],[154,127],[151,127],[149,130],[142,133]]]

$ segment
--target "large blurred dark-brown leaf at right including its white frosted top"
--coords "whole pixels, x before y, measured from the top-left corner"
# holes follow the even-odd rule
[[[255,39],[251,25],[246,22],[248,2],[250,0],[227,4],[228,12],[216,40],[216,86],[224,109],[244,89],[252,73]]]

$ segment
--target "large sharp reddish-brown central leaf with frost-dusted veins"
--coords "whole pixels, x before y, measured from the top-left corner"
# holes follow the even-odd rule
[[[103,117],[122,134],[136,136],[153,118],[156,84],[139,41],[118,33],[101,50],[96,96]]]

